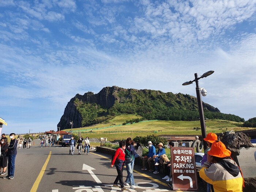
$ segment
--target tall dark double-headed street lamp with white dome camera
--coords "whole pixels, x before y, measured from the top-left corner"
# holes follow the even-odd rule
[[[189,85],[192,84],[193,82],[196,82],[196,97],[197,97],[197,105],[198,105],[198,110],[199,110],[199,117],[200,117],[200,124],[201,124],[201,131],[202,131],[202,138],[206,138],[206,125],[205,125],[205,121],[204,121],[204,110],[203,110],[203,103],[202,103],[202,98],[201,98],[201,94],[203,96],[206,96],[206,90],[202,89],[199,87],[199,83],[198,80],[204,77],[207,77],[211,74],[213,74],[214,71],[207,71],[206,73],[204,73],[202,76],[200,76],[198,78],[197,74],[195,74],[195,79],[192,81],[188,81],[183,83],[182,85]],[[204,145],[204,150],[207,149],[207,143],[206,141],[203,140],[203,145]]]

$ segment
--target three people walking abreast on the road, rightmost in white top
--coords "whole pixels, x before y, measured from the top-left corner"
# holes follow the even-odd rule
[[[90,149],[90,141],[89,137],[86,137],[83,139],[82,136],[79,136],[78,140],[74,139],[74,136],[71,136],[71,139],[69,140],[69,154],[74,155],[75,146],[78,149],[78,155],[81,155],[82,148],[84,148],[84,155],[89,155],[89,149]]]

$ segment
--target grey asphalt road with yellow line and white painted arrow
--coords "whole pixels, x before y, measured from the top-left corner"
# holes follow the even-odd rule
[[[35,144],[39,141],[35,141]],[[115,192],[112,186],[116,168],[110,167],[110,155],[92,152],[89,155],[69,155],[68,147],[40,147],[20,149],[16,156],[13,180],[0,176],[0,188],[8,192]],[[162,174],[143,172],[134,167],[136,189],[131,192],[171,191]],[[124,180],[127,176],[124,169]],[[119,183],[118,183],[119,184]]]

